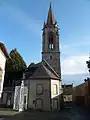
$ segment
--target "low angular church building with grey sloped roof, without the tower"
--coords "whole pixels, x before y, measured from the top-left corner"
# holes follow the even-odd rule
[[[27,104],[28,109],[60,110],[60,95],[62,94],[60,76],[46,60],[27,69],[24,84],[27,86],[28,95],[26,93],[22,95],[23,107]],[[17,96],[18,93],[14,100],[16,100]],[[19,108],[19,97],[17,101]],[[14,101],[14,103],[17,102]],[[14,109],[16,109],[15,105]]]

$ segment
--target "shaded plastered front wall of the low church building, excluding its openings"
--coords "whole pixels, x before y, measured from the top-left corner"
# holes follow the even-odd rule
[[[43,94],[36,95],[36,85],[43,84]],[[28,108],[33,108],[33,100],[43,100],[43,110],[50,110],[50,80],[29,80]]]

